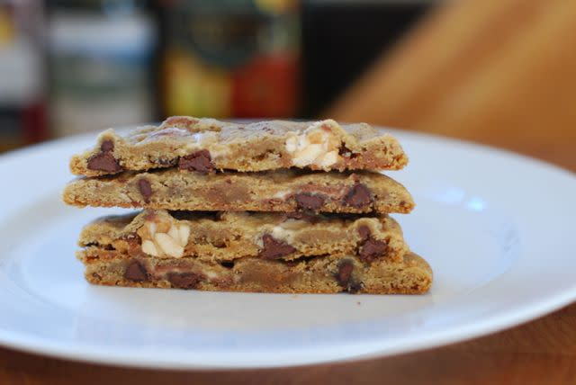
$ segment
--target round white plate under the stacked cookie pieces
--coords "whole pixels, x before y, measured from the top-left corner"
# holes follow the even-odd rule
[[[576,178],[527,157],[396,132],[398,215],[432,265],[423,296],[244,294],[95,287],[80,228],[122,210],[66,207],[68,157],[94,136],[0,157],[0,344],[75,360],[245,368],[374,357],[482,336],[576,300]]]

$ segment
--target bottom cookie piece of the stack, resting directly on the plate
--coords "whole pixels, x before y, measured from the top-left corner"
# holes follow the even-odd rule
[[[88,248],[77,257],[88,282],[131,287],[280,293],[422,294],[432,271],[419,255],[401,262],[372,263],[350,255],[322,255],[295,261],[243,257],[212,263],[198,258],[134,257],[119,250]]]

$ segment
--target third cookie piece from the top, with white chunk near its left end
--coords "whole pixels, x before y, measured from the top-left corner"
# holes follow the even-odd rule
[[[343,218],[302,212],[144,210],[96,219],[85,226],[78,243],[134,257],[208,262],[336,254],[400,262],[408,252],[400,226],[387,215]]]

